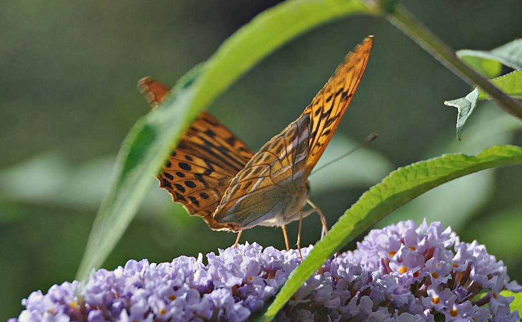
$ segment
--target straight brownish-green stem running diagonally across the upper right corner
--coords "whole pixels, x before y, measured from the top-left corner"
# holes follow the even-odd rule
[[[425,51],[471,86],[478,85],[481,91],[490,94],[493,100],[507,113],[522,119],[522,103],[506,95],[478,72],[462,63],[451,48],[414,18],[405,7],[397,4],[389,12],[390,14],[386,18],[410,36]]]

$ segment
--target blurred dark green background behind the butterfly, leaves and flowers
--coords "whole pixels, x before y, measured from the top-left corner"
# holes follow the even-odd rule
[[[492,49],[522,35],[522,2],[401,2],[454,49]],[[114,157],[149,107],[135,89],[152,76],[168,85],[277,1],[0,2],[0,320],[21,299],[74,279]],[[298,117],[343,57],[366,35],[375,45],[322,162],[370,132],[379,138],[311,176],[312,201],[333,224],[390,170],[442,153],[522,145],[520,122],[480,103],[455,139],[456,109],[443,102],[470,87],[382,18],[352,17],[313,30],[269,56],[209,107],[253,150]],[[352,138],[352,139],[349,139]],[[339,174],[346,174],[340,176]],[[482,171],[447,183],[385,222],[429,217],[477,239],[522,280],[522,169]],[[384,222],[378,225],[384,225]],[[289,226],[295,240],[297,225]],[[319,238],[316,216],[303,245]],[[256,227],[243,242],[284,247],[280,229]],[[508,237],[508,238],[506,238]],[[130,258],[171,261],[230,246],[153,189],[104,267]]]

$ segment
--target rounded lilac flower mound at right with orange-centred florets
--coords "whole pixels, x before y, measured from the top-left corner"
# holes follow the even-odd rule
[[[395,276],[417,299],[413,307],[422,309],[428,320],[519,320],[517,311],[510,312],[513,297],[500,292],[520,292],[522,287],[509,282],[502,261],[477,241],[460,242],[440,222],[428,225],[424,220],[417,227],[408,220],[372,230],[347,256]]]

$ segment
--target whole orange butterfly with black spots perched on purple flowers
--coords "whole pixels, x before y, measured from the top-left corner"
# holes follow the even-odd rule
[[[301,116],[253,153],[210,114],[203,112],[182,134],[158,179],[172,200],[212,230],[238,233],[254,226],[279,226],[317,212],[307,180],[339,126],[364,73],[373,45],[368,36],[337,67]],[[155,108],[169,89],[150,78],[138,89]],[[311,210],[303,212],[309,203]],[[298,234],[300,250],[300,233]]]

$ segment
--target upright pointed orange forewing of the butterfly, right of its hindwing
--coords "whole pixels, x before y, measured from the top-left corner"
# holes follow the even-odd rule
[[[323,89],[315,95],[312,103],[304,110],[302,115],[310,115],[312,132],[305,176],[310,175],[339,126],[353,93],[361,81],[372,45],[373,37],[370,36],[355,47],[353,52],[348,53],[345,60],[337,67],[334,76],[330,77]]]

